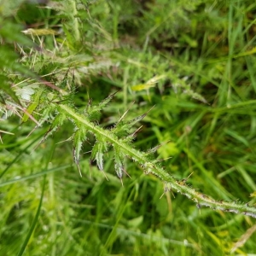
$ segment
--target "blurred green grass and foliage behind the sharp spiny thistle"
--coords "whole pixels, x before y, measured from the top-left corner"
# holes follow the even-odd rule
[[[235,0],[0,1],[1,253],[255,253],[253,218],[163,195],[163,183],[130,160],[122,187],[111,152],[107,180],[85,154],[93,137],[80,177],[68,122],[38,145],[57,92],[84,110],[119,90],[97,116],[102,126],[154,106],[135,127],[143,125],[136,147],[164,143],[155,157],[172,156],[163,164],[173,176],[193,172],[188,183],[204,194],[253,205],[255,8]]]

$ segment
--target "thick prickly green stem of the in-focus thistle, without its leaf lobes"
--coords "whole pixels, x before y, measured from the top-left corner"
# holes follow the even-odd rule
[[[174,189],[177,193],[186,195],[190,200],[195,201],[198,208],[211,207],[214,210],[220,210],[224,212],[241,213],[247,216],[256,218],[256,207],[249,207],[247,204],[239,204],[236,202],[228,201],[215,201],[208,195],[203,195],[196,189],[189,187],[186,184],[186,180],[177,180],[166,172],[162,166],[154,165],[147,159],[145,154],[138,151],[135,148],[131,148],[127,143],[123,142],[119,137],[115,136],[111,131],[104,130],[102,127],[95,125],[88,119],[75,113],[72,108],[66,105],[58,105],[70,119],[73,119],[80,124],[83,124],[85,129],[90,131],[96,137],[103,137],[108,143],[111,143],[114,147],[120,148],[120,150],[132,160],[135,160],[139,165],[143,166],[147,173],[153,173],[155,176],[166,183],[166,191]]]

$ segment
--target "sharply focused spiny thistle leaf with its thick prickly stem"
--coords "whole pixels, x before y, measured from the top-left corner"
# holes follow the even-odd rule
[[[75,108],[73,102],[68,99],[70,96],[67,96],[67,93],[63,94],[63,96],[54,96],[54,100],[44,105],[43,117],[38,123],[42,124],[48,121],[51,125],[40,143],[44,142],[55,131],[58,131],[64,122],[71,122],[74,127],[72,136],[73,161],[79,168],[80,176],[82,176],[79,167],[80,155],[83,153],[83,144],[86,143],[88,135],[91,134],[95,137],[95,143],[91,149],[90,163],[96,161],[98,169],[104,172],[104,158],[108,151],[113,150],[113,166],[121,182],[124,174],[127,173],[125,172],[125,159],[130,159],[140,166],[145,174],[153,174],[159,177],[164,183],[164,193],[175,191],[185,195],[191,201],[194,201],[199,209],[201,207],[211,207],[213,210],[241,213],[256,218],[256,208],[250,206],[249,203],[216,201],[211,196],[204,195],[197,189],[192,188],[187,183],[187,179],[178,180],[172,176],[172,170],[166,171],[161,166],[160,161],[154,158],[154,152],[160,146],[148,148],[146,152],[134,148],[132,142],[136,137],[137,131],[132,131],[133,125],[141,121],[147,113],[138,116],[136,119],[125,121],[125,115],[128,112],[126,111],[112,128],[104,129],[98,124],[96,117],[102,109],[107,107],[115,93],[96,105],[89,101],[84,111],[79,111],[79,109]],[[108,179],[108,174],[105,174],[105,176]]]

